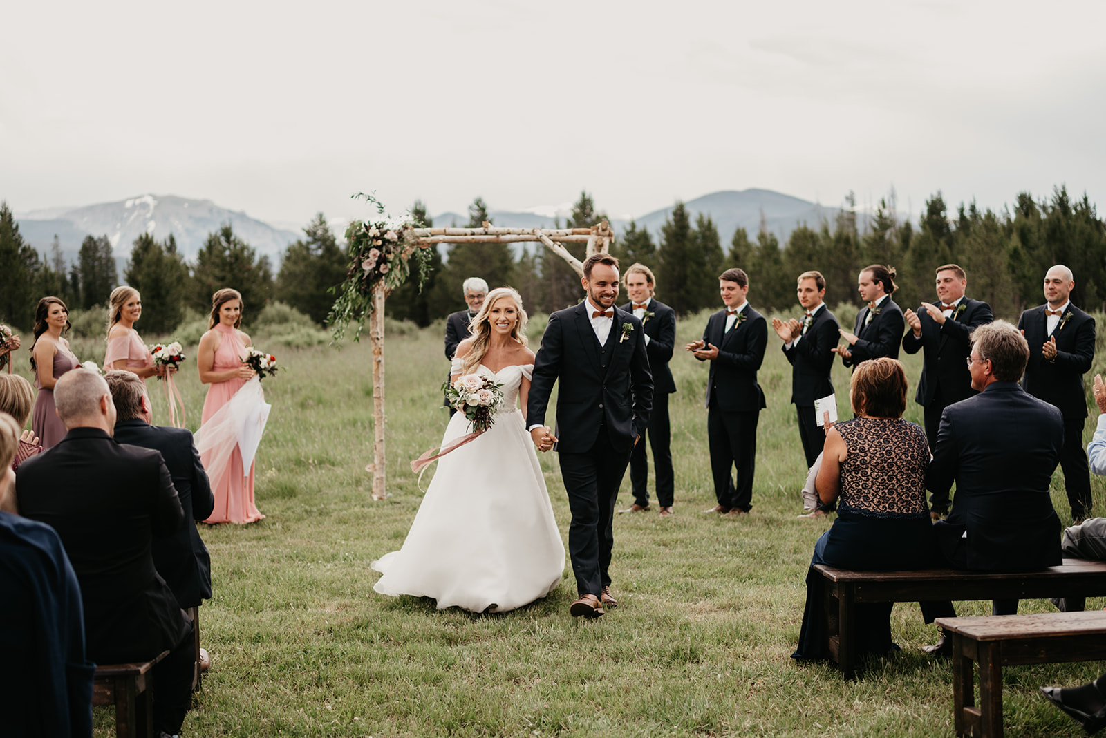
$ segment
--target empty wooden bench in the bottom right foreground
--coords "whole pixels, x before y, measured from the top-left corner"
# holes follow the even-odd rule
[[[958,736],[1002,738],[1003,666],[1106,658],[1106,612],[1100,610],[938,618],[937,624],[952,639],[952,721]]]

